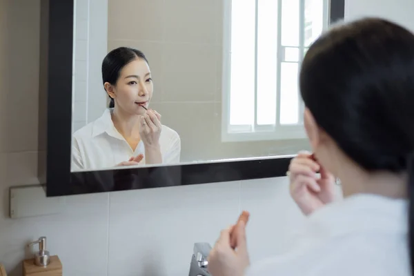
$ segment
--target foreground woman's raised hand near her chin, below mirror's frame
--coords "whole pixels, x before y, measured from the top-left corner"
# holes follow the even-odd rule
[[[289,172],[290,195],[305,215],[335,201],[335,177],[311,154],[299,153],[290,161]]]

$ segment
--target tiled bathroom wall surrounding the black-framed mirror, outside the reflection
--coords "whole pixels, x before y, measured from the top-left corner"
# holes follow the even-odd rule
[[[348,0],[347,17],[393,10],[414,27],[414,3],[380,2]],[[59,215],[8,219],[8,188],[37,183],[39,7],[0,0],[0,262],[10,276],[21,275],[25,244],[41,235],[65,276],[188,275],[193,243],[215,242],[242,209],[252,213],[253,262],[282,251],[303,219],[284,177],[67,197]]]

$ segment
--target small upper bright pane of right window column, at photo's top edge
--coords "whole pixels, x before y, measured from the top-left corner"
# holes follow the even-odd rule
[[[299,0],[282,0],[282,45],[299,46]]]

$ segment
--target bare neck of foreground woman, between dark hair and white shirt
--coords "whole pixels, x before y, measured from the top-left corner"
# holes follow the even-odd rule
[[[355,194],[374,194],[391,198],[406,197],[408,178],[391,172],[366,172],[356,164],[346,164],[339,170],[344,197]]]

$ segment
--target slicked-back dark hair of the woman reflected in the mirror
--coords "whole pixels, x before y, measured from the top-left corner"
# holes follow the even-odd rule
[[[134,48],[119,47],[108,52],[102,61],[102,82],[115,85],[122,68],[135,59],[144,59],[148,63],[144,53]],[[115,107],[114,99],[109,98],[109,107]]]

